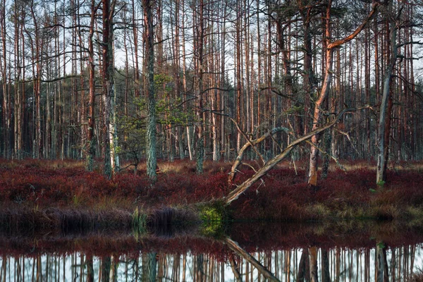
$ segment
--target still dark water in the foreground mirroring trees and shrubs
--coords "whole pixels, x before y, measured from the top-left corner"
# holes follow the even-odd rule
[[[391,223],[226,232],[0,233],[0,281],[407,281],[423,269],[421,231]]]

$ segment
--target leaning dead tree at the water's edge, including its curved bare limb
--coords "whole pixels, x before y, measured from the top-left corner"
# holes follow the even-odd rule
[[[226,205],[231,204],[231,202],[233,202],[234,200],[238,199],[238,197],[240,197],[241,194],[243,194],[243,192],[247,191],[252,185],[254,185],[254,183],[257,182],[257,180],[260,180],[263,176],[266,175],[266,173],[268,173],[271,168],[274,168],[274,166],[276,166],[276,164],[278,164],[279,162],[281,162],[283,159],[285,159],[286,157],[288,157],[288,155],[290,154],[290,152],[297,147],[298,145],[301,145],[304,142],[309,141],[310,138],[312,138],[312,136],[317,135],[319,133],[323,133],[326,130],[331,129],[334,125],[336,125],[336,123],[338,123],[338,121],[341,119],[341,117],[348,112],[353,112],[353,111],[358,111],[358,110],[362,110],[362,109],[372,109],[371,106],[363,106],[357,109],[344,109],[343,111],[341,111],[341,113],[339,113],[337,116],[335,116],[335,118],[333,118],[333,120],[329,123],[326,123],[325,125],[312,130],[311,132],[307,133],[306,135],[303,135],[301,137],[298,137],[298,139],[294,140],[293,142],[291,142],[285,149],[283,149],[281,151],[280,154],[276,155],[276,157],[274,157],[273,159],[270,159],[269,161],[265,162],[264,165],[262,166],[262,168],[260,168],[258,171],[255,172],[255,174],[248,178],[247,180],[245,180],[242,184],[238,185],[234,190],[232,190],[232,192],[230,192],[228,194],[228,196],[223,198],[223,201]],[[243,160],[243,155],[246,151],[246,149],[248,149],[248,147],[255,147],[256,145],[258,145],[260,142],[266,140],[267,137],[271,137],[273,136],[275,133],[281,132],[281,131],[287,131],[287,128],[274,128],[273,130],[271,130],[270,132],[262,135],[262,137],[257,138],[256,140],[248,140],[247,143],[240,149],[240,152],[238,153],[238,157],[236,158],[232,168],[231,168],[231,172],[229,173],[229,178],[228,178],[228,182],[232,183],[233,182],[233,178],[235,177],[235,173],[238,170],[238,166],[241,164],[242,160]]]

